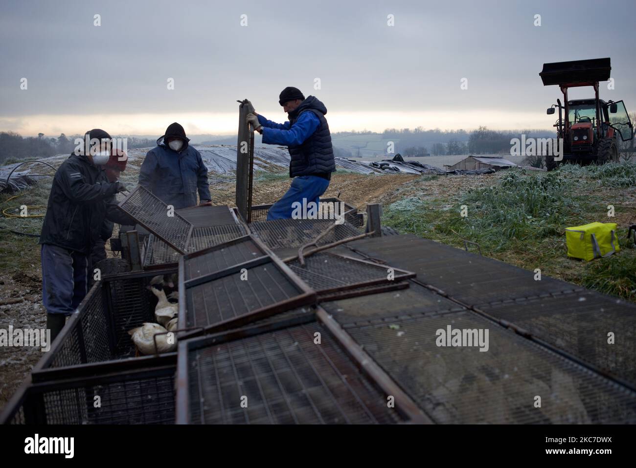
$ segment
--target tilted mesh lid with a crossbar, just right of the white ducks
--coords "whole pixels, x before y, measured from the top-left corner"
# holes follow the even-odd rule
[[[179,328],[214,333],[315,302],[301,281],[257,238],[247,235],[179,261]]]

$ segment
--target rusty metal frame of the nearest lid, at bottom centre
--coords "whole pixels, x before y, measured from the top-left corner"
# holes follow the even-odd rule
[[[315,320],[320,322],[331,336],[336,340],[337,344],[342,348],[347,356],[354,362],[361,373],[372,383],[377,390],[380,390],[385,396],[392,396],[395,399],[395,406],[400,415],[406,419],[405,423],[415,424],[431,424],[431,418],[420,409],[415,401],[406,394],[385,371],[373,361],[370,355],[364,352],[353,338],[340,327],[323,308],[317,306],[316,313],[312,314]],[[188,388],[188,352],[193,349],[209,347],[212,345],[221,345],[229,341],[240,340],[241,338],[249,338],[258,334],[277,331],[291,326],[300,325],[294,322],[298,319],[281,320],[261,326],[244,327],[216,333],[209,336],[199,337],[192,340],[179,341],[179,350],[177,353],[177,375],[176,375],[176,423],[190,423],[190,393]],[[305,323],[309,320],[305,320]],[[312,320],[313,321],[313,320]]]

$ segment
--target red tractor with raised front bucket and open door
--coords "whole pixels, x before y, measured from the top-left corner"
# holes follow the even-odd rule
[[[611,69],[609,57],[543,64],[539,73],[543,85],[558,85],[565,104],[557,99],[557,104],[548,108],[551,115],[558,107],[558,120],[553,127],[556,137],[563,139],[562,159],[545,155],[548,170],[566,161],[580,165],[618,162],[617,134],[622,141],[633,138],[632,122],[623,101],[598,99],[598,82],[607,81]],[[592,86],[593,99],[567,99],[568,88],[578,86]]]

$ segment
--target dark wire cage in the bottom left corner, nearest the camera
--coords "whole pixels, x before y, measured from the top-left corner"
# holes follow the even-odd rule
[[[26,382],[0,414],[3,424],[172,424],[176,353],[136,368]]]

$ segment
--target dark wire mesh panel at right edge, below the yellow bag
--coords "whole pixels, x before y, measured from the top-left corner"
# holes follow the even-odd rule
[[[636,305],[594,291],[480,306],[636,386]]]

